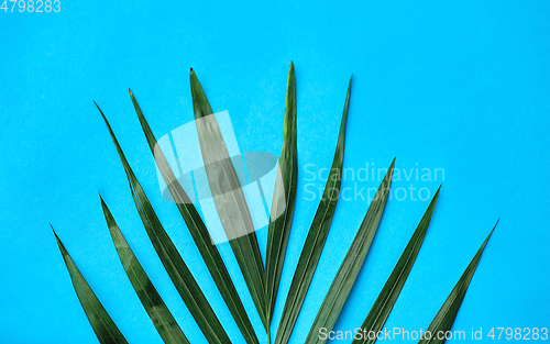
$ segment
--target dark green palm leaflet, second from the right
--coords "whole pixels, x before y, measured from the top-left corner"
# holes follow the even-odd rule
[[[418,224],[413,237],[410,237],[407,247],[402,254],[402,257],[397,262],[392,275],[387,279],[384,288],[382,288],[378,298],[374,302],[369,315],[366,315],[365,321],[361,325],[362,333],[374,333],[377,334],[378,331],[382,330],[384,323],[389,317],[392,309],[394,308],[395,301],[399,297],[402,292],[403,286],[407,280],[407,277],[415,264],[418,252],[420,251],[420,246],[422,245],[424,237],[426,236],[426,232],[428,231],[428,226],[430,225],[431,215],[433,214],[433,209],[436,208],[436,203],[438,201],[439,190],[433,196],[430,206],[426,210],[420,223]],[[374,337],[374,339],[373,339]],[[361,339],[355,339],[352,344],[359,343],[374,343],[376,342],[376,336],[363,335]]]

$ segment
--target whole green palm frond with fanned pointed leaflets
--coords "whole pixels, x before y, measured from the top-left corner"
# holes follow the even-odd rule
[[[234,253],[248,289],[254,301],[255,309],[267,332],[271,343],[270,324],[278,295],[282,269],[284,266],[294,208],[296,202],[298,158],[297,158],[297,125],[296,125],[296,80],[294,64],[290,63],[286,90],[284,113],[283,147],[280,152],[278,171],[275,180],[270,225],[267,233],[266,265],[263,266],[260,246],[254,232],[252,217],[241,188],[241,181],[229,156],[226,143],[207,100],[205,91],[195,74],[190,71],[190,86],[195,112],[195,123],[202,153],[202,159],[210,186],[210,191],[217,208],[221,224],[229,238],[229,244]],[[339,200],[344,157],[345,126],[351,93],[351,79],[348,87],[343,114],[340,124],[338,144],[334,152],[332,167],[327,179],[322,199],[306,237],[296,270],[290,282],[288,296],[284,306],[282,319],[276,332],[275,344],[286,344],[293,333],[298,314],[304,304],[306,295],[317,269],[322,254],[324,242],[330,230],[332,218]],[[132,103],[135,108],[143,133],[155,159],[156,166],[166,182],[176,207],[182,214],[189,232],[198,247],[202,259],[213,278],[228,309],[239,326],[248,344],[258,344],[258,340],[249,314],[237,292],[228,269],[213,245],[210,234],[200,218],[190,198],[175,177],[166,157],[130,91]],[[97,104],[96,104],[97,106]],[[99,109],[99,107],[98,107]],[[101,112],[101,110],[99,109]],[[231,343],[220,320],[217,318],[206,296],[195,280],[179,252],[164,230],[148,198],[135,177],[127,160],[117,137],[101,112],[111,138],[118,151],[122,166],[130,185],[132,199],[138,209],[147,235],[161,258],[168,276],[189,309],[198,326],[209,343]],[[385,204],[394,171],[395,159],[389,166],[386,176],[369,207],[365,218],[343,259],[330,288],[327,292],[315,322],[306,340],[307,344],[324,343],[320,329],[331,331],[341,313],[353,284],[373,242]],[[441,188],[441,187],[440,187]],[[399,260],[380,292],[371,311],[366,315],[361,333],[378,333],[392,312],[399,293],[408,278],[428,231],[440,188],[433,196],[428,209],[420,220],[416,231],[405,247]],[[148,279],[143,267],[138,262],[132,249],[122,235],[113,215],[101,198],[103,214],[114,243],[119,258],[123,265],[140,301],[153,321],[157,332],[165,343],[188,343],[184,332],[176,323],[174,317],[162,300],[155,287]],[[498,223],[498,222],[497,222]],[[495,224],[496,228],[496,224]],[[494,229],[493,229],[494,231]],[[493,233],[493,231],[491,233]],[[119,329],[113,323],[98,298],[80,274],[65,246],[54,231],[57,244],[69,271],[73,285],[80,303],[96,332],[100,343],[127,343]],[[451,291],[450,296],[439,310],[426,333],[450,331],[469,285],[475,273],[481,255],[491,237],[487,236],[476,255],[464,270],[462,277]],[[352,344],[374,343],[374,336],[355,336]],[[419,344],[442,344],[446,340],[437,336],[422,337]]]

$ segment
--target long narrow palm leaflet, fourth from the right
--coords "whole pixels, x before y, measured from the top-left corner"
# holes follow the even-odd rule
[[[351,79],[348,86],[348,95],[345,96],[345,104],[342,114],[342,122],[340,124],[340,134],[338,136],[334,159],[332,160],[332,168],[330,169],[330,174],[327,179],[327,186],[324,187],[321,202],[319,203],[314,222],[311,223],[311,228],[309,229],[309,233],[306,237],[304,249],[301,251],[300,258],[298,259],[298,266],[296,267],[285,302],[285,308],[283,310],[280,323],[277,329],[277,335],[275,337],[276,344],[285,344],[290,337],[296,320],[298,319],[301,304],[306,298],[311,279],[314,278],[317,264],[319,263],[322,247],[324,246],[324,241],[327,240],[327,235],[329,233],[330,224],[332,223],[332,217],[334,215],[340,192],[345,142],[345,122],[348,118],[348,107],[350,103],[350,92]]]

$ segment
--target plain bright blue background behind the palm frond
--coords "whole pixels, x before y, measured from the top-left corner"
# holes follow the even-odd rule
[[[15,8],[16,11],[16,8]],[[0,337],[97,343],[51,222],[131,343],[161,343],[124,275],[98,190],[191,343],[206,343],[147,241],[96,100],[235,343],[237,325],[176,208],[162,199],[128,87],[157,137],[193,120],[194,67],[244,151],[279,155],[296,66],[299,181],[273,329],[318,206],[306,173],[329,167],[353,73],[345,168],[443,168],[431,226],[386,322],[426,329],[502,218],[454,323],[550,326],[550,3],[548,1],[64,1],[59,13],[0,12]],[[308,164],[309,167],[306,167]],[[344,180],[342,188],[378,180]],[[400,180],[429,188],[441,180]],[[341,200],[296,324],[302,343],[369,200]],[[388,201],[336,330],[359,326],[428,201]],[[265,230],[258,231],[262,247]],[[261,324],[229,246],[220,249]],[[491,341],[485,336],[484,341]],[[406,341],[416,343],[417,341]]]

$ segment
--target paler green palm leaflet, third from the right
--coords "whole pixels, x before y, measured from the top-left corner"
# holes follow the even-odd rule
[[[340,269],[332,281],[332,285],[322,301],[321,308],[317,313],[317,318],[309,331],[306,343],[324,343],[327,340],[319,337],[320,329],[332,331],[334,323],[340,315],[340,311],[345,303],[345,299],[358,278],[361,266],[365,260],[366,254],[378,229],[384,207],[386,206],[389,186],[392,185],[392,176],[394,174],[395,158],[389,166],[386,176],[381,182],[374,199],[369,207],[365,219],[353,240],[348,254],[340,265]]]

